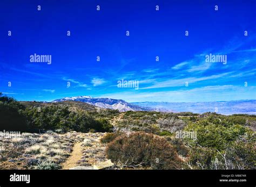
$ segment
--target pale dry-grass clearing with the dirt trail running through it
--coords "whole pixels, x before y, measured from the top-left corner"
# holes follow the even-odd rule
[[[0,138],[0,169],[97,169],[107,161],[105,133],[23,133],[18,138]],[[85,169],[85,168],[83,168]]]

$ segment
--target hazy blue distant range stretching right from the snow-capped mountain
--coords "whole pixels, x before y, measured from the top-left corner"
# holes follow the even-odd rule
[[[154,110],[174,110],[177,112],[216,112],[220,114],[256,114],[256,100],[232,100],[219,102],[169,103],[169,102],[137,102],[132,103]]]

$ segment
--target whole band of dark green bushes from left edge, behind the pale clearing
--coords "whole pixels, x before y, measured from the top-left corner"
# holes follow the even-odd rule
[[[66,103],[17,102],[15,99],[0,96],[0,127],[5,131],[75,130],[89,132],[111,132],[112,125],[103,118],[95,119],[83,108],[93,106],[78,102]],[[26,107],[25,107],[26,106]]]

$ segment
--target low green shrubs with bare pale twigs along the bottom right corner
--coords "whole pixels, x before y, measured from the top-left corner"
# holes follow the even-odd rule
[[[189,165],[193,169],[255,169],[255,149],[251,143],[234,142],[225,150],[193,147]]]

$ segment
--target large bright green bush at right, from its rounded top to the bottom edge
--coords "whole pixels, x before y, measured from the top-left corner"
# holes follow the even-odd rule
[[[197,132],[197,139],[185,139],[193,169],[255,168],[255,139],[249,128],[210,116],[188,124],[185,131]]]

